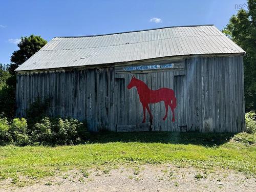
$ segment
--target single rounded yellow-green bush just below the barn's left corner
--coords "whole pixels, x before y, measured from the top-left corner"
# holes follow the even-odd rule
[[[27,135],[28,124],[25,118],[15,118],[10,123],[9,134],[16,145],[27,145],[30,137]]]

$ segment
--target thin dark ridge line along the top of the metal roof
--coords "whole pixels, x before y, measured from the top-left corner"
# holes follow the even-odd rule
[[[58,37],[58,38],[96,37],[96,36],[115,35],[115,34],[122,34],[122,33],[134,33],[134,32],[140,32],[140,31],[151,31],[151,30],[166,29],[166,28],[178,28],[178,27],[201,27],[201,26],[214,26],[214,24],[204,24],[204,25],[184,25],[184,26],[169,26],[169,27],[151,28],[151,29],[143,29],[143,30],[135,30],[135,31],[125,31],[125,32],[108,33],[108,34],[98,34],[98,35],[56,36],[56,37]],[[56,37],[54,37],[54,38],[56,38]]]

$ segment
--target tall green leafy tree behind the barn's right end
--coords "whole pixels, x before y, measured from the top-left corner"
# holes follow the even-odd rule
[[[248,0],[248,11],[232,15],[222,30],[246,51],[244,57],[245,110],[256,110],[256,0]]]

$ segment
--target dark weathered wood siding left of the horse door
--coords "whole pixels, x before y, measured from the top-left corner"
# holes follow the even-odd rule
[[[38,96],[50,97],[49,116],[86,120],[91,131],[109,129],[112,68],[17,74],[17,116]]]

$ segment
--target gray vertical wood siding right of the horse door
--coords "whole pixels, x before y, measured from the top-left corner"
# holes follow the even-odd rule
[[[187,95],[189,127],[193,123],[202,132],[245,130],[242,56],[186,59],[186,73],[181,89]]]

